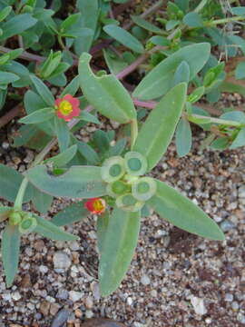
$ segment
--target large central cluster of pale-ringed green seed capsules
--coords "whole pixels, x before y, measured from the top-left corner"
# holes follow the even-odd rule
[[[138,212],[144,203],[156,193],[156,183],[151,177],[141,177],[147,172],[146,158],[130,151],[104,161],[102,178],[107,183],[108,195],[124,211]]]

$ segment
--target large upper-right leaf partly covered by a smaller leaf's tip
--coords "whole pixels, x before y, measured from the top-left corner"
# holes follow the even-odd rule
[[[147,74],[133,92],[133,97],[142,100],[152,100],[162,96],[171,89],[172,76],[179,64],[185,61],[190,67],[190,80],[208,61],[211,45],[201,43],[187,45],[171,54]]]

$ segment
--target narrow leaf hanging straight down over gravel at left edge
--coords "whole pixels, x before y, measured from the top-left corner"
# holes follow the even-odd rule
[[[6,285],[10,287],[18,270],[20,233],[17,226],[7,225],[2,236],[2,260],[5,268]]]

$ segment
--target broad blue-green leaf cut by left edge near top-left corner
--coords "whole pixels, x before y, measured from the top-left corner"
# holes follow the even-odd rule
[[[4,33],[0,36],[0,41],[6,40],[14,35],[20,35],[26,29],[32,27],[37,22],[30,14],[15,15],[1,25]]]

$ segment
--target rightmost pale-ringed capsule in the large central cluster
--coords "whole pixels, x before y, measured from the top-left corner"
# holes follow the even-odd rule
[[[139,201],[147,201],[156,193],[156,183],[151,177],[142,177],[132,183],[132,195]]]

